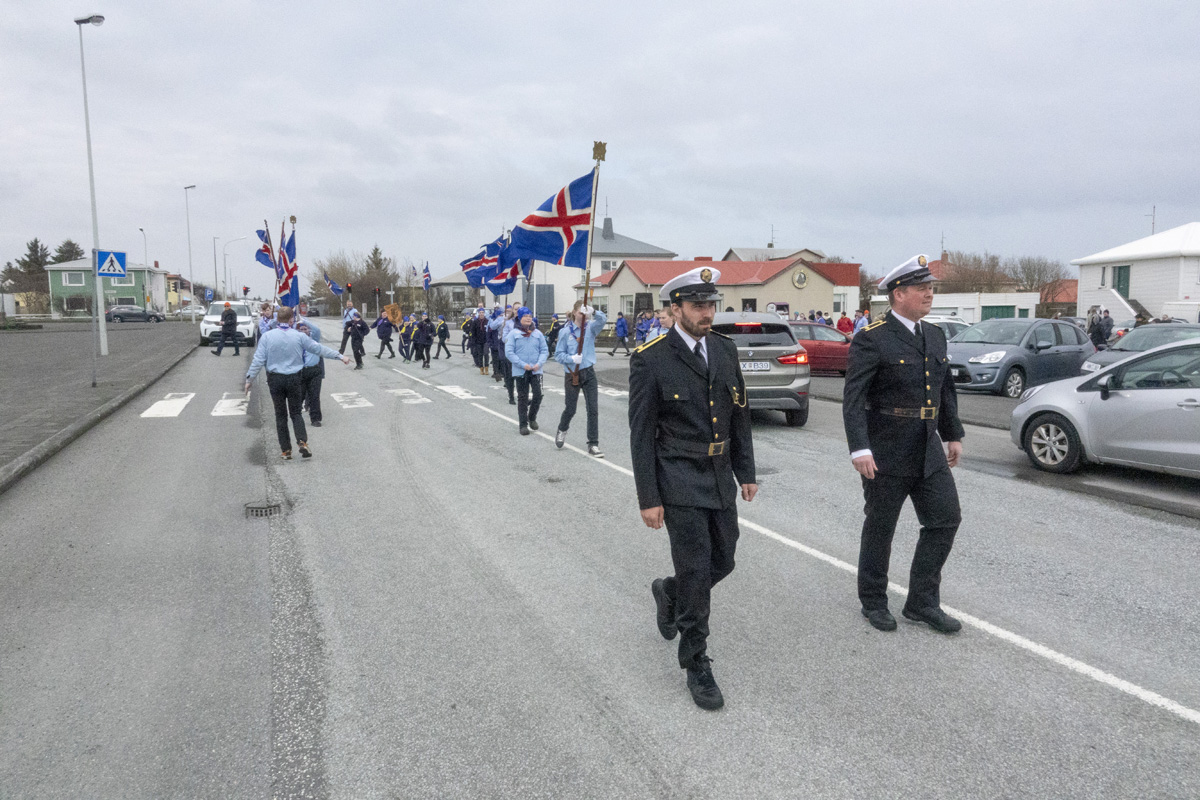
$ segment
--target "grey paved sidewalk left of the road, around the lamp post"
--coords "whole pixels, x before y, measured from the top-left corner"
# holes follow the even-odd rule
[[[92,389],[89,324],[0,332],[0,492],[161,378],[199,336],[191,323],[109,325]]]

